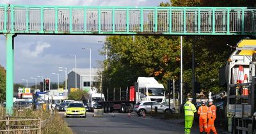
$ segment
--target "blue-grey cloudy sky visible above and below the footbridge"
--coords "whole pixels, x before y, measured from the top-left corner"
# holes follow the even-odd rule
[[[28,5],[60,5],[60,6],[158,6],[161,2],[169,0],[10,0],[0,1],[0,4],[28,4]],[[60,82],[65,79],[64,71],[58,71],[58,67],[72,70],[75,66],[74,57],[77,55],[77,68],[90,68],[90,50],[82,50],[82,47],[92,48],[92,68],[99,67],[99,62],[105,56],[100,55],[100,50],[106,36],[57,36],[57,35],[18,35],[14,40],[15,69],[14,82],[35,82],[30,77],[38,75],[57,81],[57,76],[51,73],[60,73]],[[0,35],[0,64],[6,67],[5,36]],[[40,78],[38,78],[40,81]]]

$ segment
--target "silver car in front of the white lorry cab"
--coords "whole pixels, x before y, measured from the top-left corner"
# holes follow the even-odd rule
[[[152,110],[154,111],[155,107],[157,107],[157,113],[175,113],[175,108],[170,107],[168,105],[161,105],[156,101],[140,101],[134,105],[133,111],[136,112],[138,115],[143,115],[143,113],[150,113]]]

